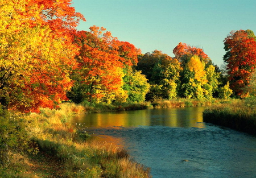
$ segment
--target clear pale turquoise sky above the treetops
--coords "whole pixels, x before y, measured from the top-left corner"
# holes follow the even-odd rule
[[[86,18],[78,30],[105,27],[142,53],[158,49],[172,57],[179,42],[187,43],[203,48],[218,66],[230,31],[256,34],[255,0],[73,0],[72,6]]]

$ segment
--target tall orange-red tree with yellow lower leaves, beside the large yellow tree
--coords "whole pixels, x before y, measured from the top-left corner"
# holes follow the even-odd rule
[[[79,68],[72,74],[76,89],[68,96],[74,99],[79,89],[82,100],[113,100],[113,93],[123,85],[123,63],[117,51],[116,38],[110,32],[104,32],[103,27],[93,26],[90,30],[77,31],[73,36],[73,42],[80,48],[76,56]]]

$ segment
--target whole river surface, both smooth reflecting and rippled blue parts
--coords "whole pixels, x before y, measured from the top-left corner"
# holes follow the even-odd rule
[[[256,138],[203,123],[203,110],[86,114],[74,122],[125,147],[153,177],[256,177]]]

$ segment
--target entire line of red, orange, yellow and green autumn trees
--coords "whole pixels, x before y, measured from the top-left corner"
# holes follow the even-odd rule
[[[226,69],[203,49],[179,43],[174,57],[142,54],[103,27],[77,31],[80,13],[69,0],[1,2],[0,103],[22,112],[56,108],[62,101],[85,104],[212,100],[249,96],[256,42],[251,30],[224,40]],[[249,87],[249,88],[248,88]]]

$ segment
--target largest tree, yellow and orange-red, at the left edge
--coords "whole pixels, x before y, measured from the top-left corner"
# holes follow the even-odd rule
[[[39,111],[67,100],[77,48],[63,30],[83,19],[70,5],[65,0],[0,2],[1,105]]]

